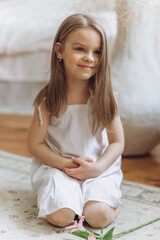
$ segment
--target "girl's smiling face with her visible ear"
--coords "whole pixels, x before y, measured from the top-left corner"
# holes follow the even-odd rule
[[[89,80],[98,71],[101,35],[93,28],[77,28],[65,43],[57,43],[67,80]],[[58,56],[58,54],[57,54]]]

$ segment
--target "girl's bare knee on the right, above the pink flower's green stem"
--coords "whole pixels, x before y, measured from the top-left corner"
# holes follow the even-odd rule
[[[83,214],[87,223],[94,228],[108,226],[118,215],[117,209],[100,202],[88,202]]]

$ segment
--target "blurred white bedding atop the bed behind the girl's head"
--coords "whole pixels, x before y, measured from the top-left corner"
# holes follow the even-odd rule
[[[84,11],[80,0],[0,1],[0,55],[46,50],[61,21],[71,13]],[[96,11],[96,9],[95,9]],[[115,37],[115,12],[95,12],[109,37]]]

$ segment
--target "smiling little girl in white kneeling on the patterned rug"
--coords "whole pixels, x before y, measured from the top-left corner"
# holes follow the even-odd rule
[[[55,36],[50,81],[34,101],[28,148],[38,217],[59,227],[76,215],[106,227],[119,213],[124,136],[107,55],[101,26],[69,16]]]

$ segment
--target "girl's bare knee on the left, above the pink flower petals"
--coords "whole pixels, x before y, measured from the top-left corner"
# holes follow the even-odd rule
[[[46,216],[47,221],[58,227],[65,227],[73,222],[75,212],[69,208],[62,208]]]

